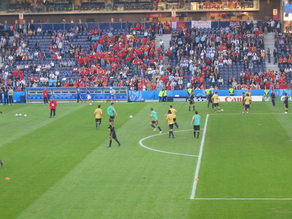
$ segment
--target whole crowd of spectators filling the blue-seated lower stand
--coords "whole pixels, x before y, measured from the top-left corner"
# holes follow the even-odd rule
[[[14,91],[26,86],[129,86],[132,90],[291,88],[286,78],[291,78],[290,65],[279,72],[265,69],[263,26],[255,21],[205,31],[182,26],[173,31],[167,50],[163,42],[155,48],[160,27],[158,21],[148,30],[137,24],[125,31],[113,27],[107,32],[87,30],[82,25],[71,30],[43,31],[40,26],[28,24],[26,31],[23,26],[13,31],[11,43],[11,29],[3,30],[1,84]],[[289,50],[281,54],[292,61],[290,36],[278,34],[272,26],[267,31],[275,31],[279,45],[285,39],[283,45],[289,45]]]

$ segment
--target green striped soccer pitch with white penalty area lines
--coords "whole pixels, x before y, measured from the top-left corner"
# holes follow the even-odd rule
[[[0,107],[0,219],[292,218],[292,114],[282,103],[253,102],[248,115],[240,102],[217,113],[197,103],[199,139],[187,103],[116,103],[120,147],[106,147],[109,103],[95,129],[97,105],[59,103],[56,118],[43,104]],[[149,126],[150,107],[164,134]]]

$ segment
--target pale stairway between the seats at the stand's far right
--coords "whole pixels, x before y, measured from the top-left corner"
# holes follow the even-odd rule
[[[274,33],[268,33],[267,35],[264,34],[264,44],[265,44],[265,52],[267,54],[268,48],[270,48],[271,51],[271,63],[268,63],[268,55],[265,57],[266,62],[266,71],[272,70],[274,72],[279,72],[278,62],[276,65],[274,65],[274,56],[273,52],[275,47],[275,34]]]

